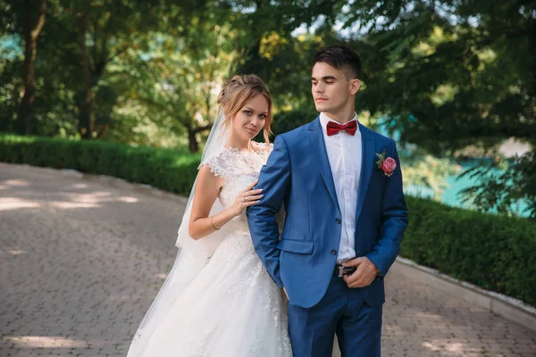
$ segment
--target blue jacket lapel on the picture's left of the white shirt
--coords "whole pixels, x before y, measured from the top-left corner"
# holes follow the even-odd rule
[[[309,142],[313,147],[314,160],[318,165],[324,184],[328,188],[328,192],[330,192],[331,199],[340,211],[339,200],[337,200],[337,193],[335,191],[335,184],[333,183],[333,175],[331,173],[330,161],[328,159],[319,117],[309,125],[308,133]]]

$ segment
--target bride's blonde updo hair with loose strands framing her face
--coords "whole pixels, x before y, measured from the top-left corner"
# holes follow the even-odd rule
[[[254,74],[244,76],[234,76],[223,87],[220,95],[218,95],[218,104],[220,110],[225,113],[223,125],[229,127],[230,120],[244,107],[246,102],[256,95],[264,95],[268,101],[268,114],[264,122],[263,137],[266,143],[270,142],[270,134],[272,133],[272,97],[270,92],[264,86],[262,79]]]

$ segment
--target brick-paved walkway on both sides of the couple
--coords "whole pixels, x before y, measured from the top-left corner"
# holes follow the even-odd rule
[[[0,356],[124,356],[184,200],[0,163]],[[536,356],[536,333],[387,277],[382,356]],[[226,356],[223,356],[226,357]]]

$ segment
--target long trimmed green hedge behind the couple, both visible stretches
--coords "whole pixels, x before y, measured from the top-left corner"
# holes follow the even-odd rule
[[[188,195],[200,156],[100,141],[0,135],[0,162],[113,176]],[[536,221],[407,197],[401,255],[536,306]]]

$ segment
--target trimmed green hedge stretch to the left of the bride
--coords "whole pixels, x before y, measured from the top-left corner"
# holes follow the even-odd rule
[[[102,141],[0,135],[0,162],[113,176],[188,195],[200,155]]]

